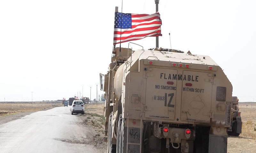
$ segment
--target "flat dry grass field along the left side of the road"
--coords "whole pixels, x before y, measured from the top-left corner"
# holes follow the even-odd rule
[[[37,112],[63,106],[62,102],[0,103],[0,118],[22,112]]]

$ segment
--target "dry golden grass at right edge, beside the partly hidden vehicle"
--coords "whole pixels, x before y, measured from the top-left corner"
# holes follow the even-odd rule
[[[256,139],[256,106],[239,106],[242,118],[242,133],[240,136]]]

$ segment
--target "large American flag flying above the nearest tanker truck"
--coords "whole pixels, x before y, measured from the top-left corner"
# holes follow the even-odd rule
[[[162,36],[161,25],[162,21],[158,12],[151,15],[115,12],[114,45],[120,43],[120,34],[121,43],[148,36]]]

